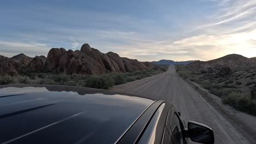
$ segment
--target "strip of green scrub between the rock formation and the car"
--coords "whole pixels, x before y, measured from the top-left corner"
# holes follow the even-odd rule
[[[109,89],[114,85],[121,85],[145,77],[153,76],[167,70],[162,65],[158,70],[139,70],[131,73],[107,73],[103,75],[65,75],[51,73],[27,73],[23,76],[11,77],[0,76],[0,85],[8,84],[45,84],[45,85],[68,85],[91,88]]]

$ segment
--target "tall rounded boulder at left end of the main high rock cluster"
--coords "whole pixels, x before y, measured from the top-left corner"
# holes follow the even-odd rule
[[[63,53],[67,51],[63,48],[53,48],[48,52],[46,62],[44,64],[45,70],[53,70],[55,71],[59,67],[60,58]]]

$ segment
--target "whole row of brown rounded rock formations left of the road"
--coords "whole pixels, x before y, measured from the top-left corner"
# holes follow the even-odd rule
[[[22,53],[14,56],[13,59],[1,57],[0,74],[19,75],[22,71],[28,71],[100,75],[110,71],[125,73],[146,70],[149,67],[155,68],[156,65],[148,63],[147,66],[137,59],[123,58],[114,52],[102,53],[89,44],[84,44],[80,50],[75,51],[53,48],[48,52],[47,58],[44,56],[30,58]]]

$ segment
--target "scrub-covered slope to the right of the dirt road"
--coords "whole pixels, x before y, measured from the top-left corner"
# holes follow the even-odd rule
[[[205,67],[176,65],[176,71],[184,79],[199,83],[210,93],[222,98],[224,104],[256,115],[255,67]],[[200,75],[196,75],[200,73]],[[254,87],[253,87],[254,86]]]

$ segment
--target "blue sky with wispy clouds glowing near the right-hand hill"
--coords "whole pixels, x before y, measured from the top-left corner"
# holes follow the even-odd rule
[[[256,57],[255,0],[0,2],[0,55],[88,43],[139,61]]]

